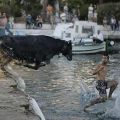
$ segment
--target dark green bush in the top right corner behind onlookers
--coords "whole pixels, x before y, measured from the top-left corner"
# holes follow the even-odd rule
[[[118,3],[106,3],[97,7],[98,23],[102,24],[103,17],[106,16],[108,23],[110,23],[111,16],[115,16],[120,20],[120,2]]]

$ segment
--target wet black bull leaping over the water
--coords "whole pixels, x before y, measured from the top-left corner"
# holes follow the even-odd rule
[[[54,55],[62,53],[68,60],[72,60],[72,44],[60,39],[44,35],[2,36],[0,49],[12,59],[35,63],[33,69],[38,69],[41,62],[50,62]]]

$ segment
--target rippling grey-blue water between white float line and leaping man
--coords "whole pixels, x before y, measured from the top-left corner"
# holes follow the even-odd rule
[[[95,81],[90,71],[100,59],[99,54],[73,56],[72,61],[54,57],[37,71],[17,65],[13,68],[24,78],[27,93],[36,99],[46,120],[117,120],[83,111],[84,105],[96,97],[88,92],[94,91]],[[111,57],[107,79],[118,79],[119,59],[119,55]]]

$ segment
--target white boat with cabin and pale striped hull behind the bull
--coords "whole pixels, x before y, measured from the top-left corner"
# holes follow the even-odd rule
[[[73,23],[60,23],[56,26],[53,36],[66,41],[71,40],[73,54],[90,54],[106,51],[106,43],[93,42],[99,25],[94,22],[76,21]]]

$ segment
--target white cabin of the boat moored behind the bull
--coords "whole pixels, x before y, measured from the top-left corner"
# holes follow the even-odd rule
[[[95,35],[98,28],[97,23],[89,21],[76,21],[74,24],[60,23],[56,26],[53,36],[75,42],[78,39],[90,38]]]

